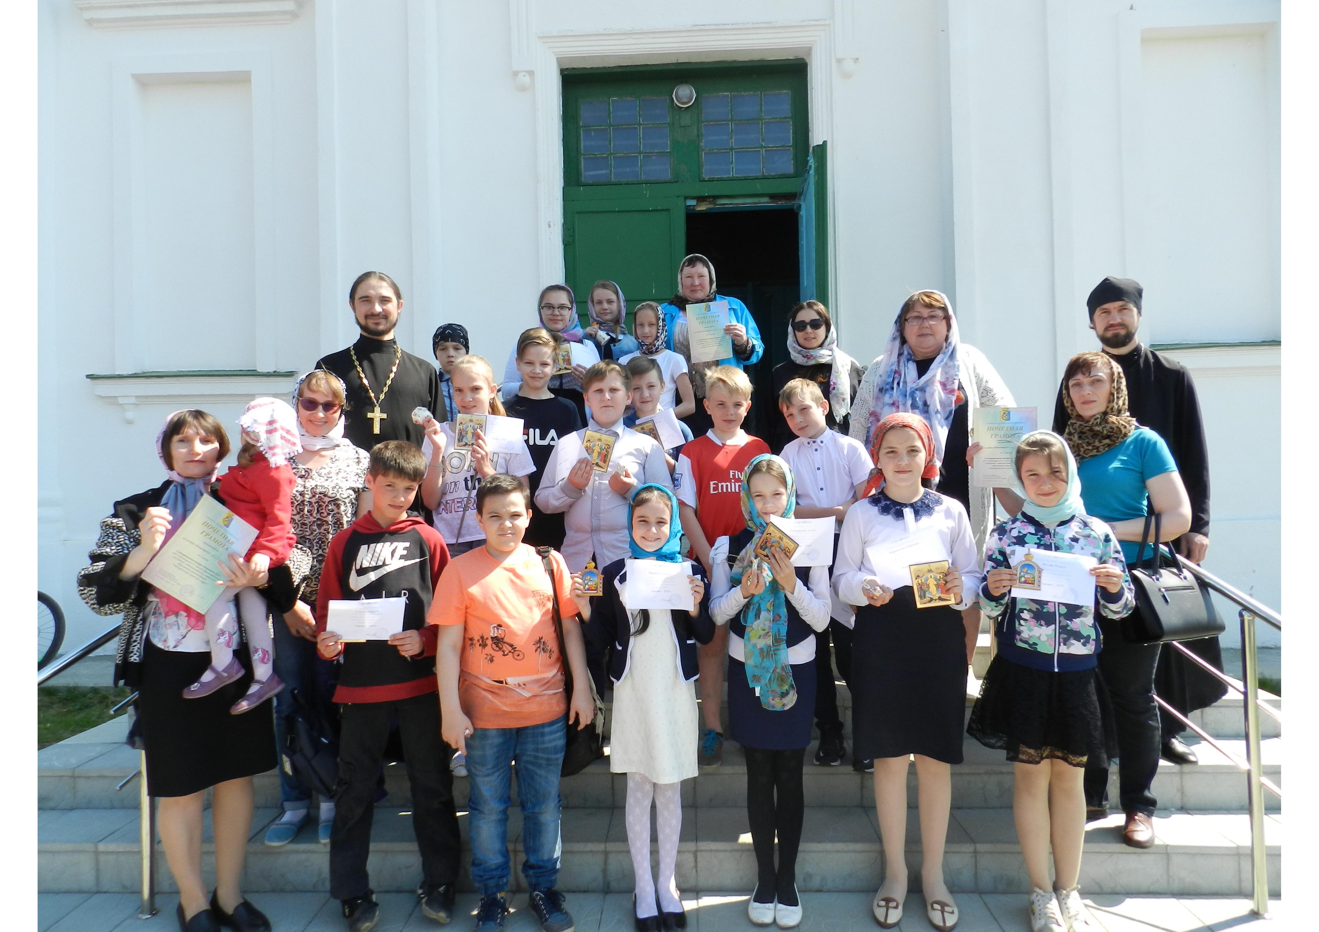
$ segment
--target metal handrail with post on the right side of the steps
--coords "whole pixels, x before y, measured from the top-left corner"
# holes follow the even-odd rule
[[[1242,696],[1242,711],[1245,713],[1245,751],[1246,759],[1241,761],[1235,754],[1231,754],[1219,742],[1216,742],[1210,734],[1207,734],[1202,728],[1194,725],[1190,718],[1183,716],[1181,712],[1174,709],[1166,701],[1154,696],[1154,700],[1161,708],[1166,709],[1173,717],[1181,721],[1183,725],[1195,732],[1200,738],[1210,743],[1215,750],[1227,757],[1232,763],[1245,771],[1246,776],[1246,794],[1249,798],[1249,812],[1250,812],[1250,881],[1252,881],[1252,895],[1250,895],[1250,912],[1257,916],[1269,915],[1269,862],[1268,852],[1264,842],[1264,791],[1269,790],[1279,799],[1282,798],[1282,790],[1264,775],[1264,757],[1260,751],[1260,709],[1264,709],[1270,716],[1282,721],[1282,714],[1266,705],[1260,700],[1260,659],[1256,656],[1256,620],[1262,620],[1265,624],[1270,625],[1277,630],[1282,630],[1282,616],[1270,609],[1268,605],[1252,598],[1240,589],[1237,589],[1231,583],[1224,583],[1221,579],[1208,572],[1200,566],[1191,563],[1184,556],[1178,555],[1178,562],[1182,568],[1195,576],[1198,580],[1204,583],[1212,592],[1219,593],[1228,601],[1236,602],[1239,606],[1237,617],[1241,621],[1241,680],[1235,680],[1228,676],[1221,670],[1213,668],[1210,663],[1206,663],[1202,658],[1192,654],[1184,646],[1173,642],[1174,646],[1182,651],[1184,656],[1191,658],[1203,667],[1206,671],[1219,678],[1228,684],[1232,689],[1236,689]]]

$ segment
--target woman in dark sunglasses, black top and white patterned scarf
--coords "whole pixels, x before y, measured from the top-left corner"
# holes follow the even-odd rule
[[[782,410],[778,393],[794,378],[805,378],[820,386],[828,399],[824,423],[830,430],[847,434],[851,423],[852,399],[861,384],[865,369],[855,359],[838,348],[838,331],[828,310],[818,301],[803,301],[787,316],[787,363],[780,363],[770,373],[774,392],[769,395],[769,448],[781,453],[795,439]]]

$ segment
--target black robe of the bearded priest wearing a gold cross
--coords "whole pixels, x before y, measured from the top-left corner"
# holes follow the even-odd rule
[[[361,336],[352,349],[357,353],[357,363],[361,365],[371,390],[380,398],[390,369],[394,368],[394,353],[397,349],[394,340],[376,340]],[[344,410],[343,434],[356,447],[369,451],[377,443],[385,440],[408,440],[418,447],[425,439],[425,432],[413,423],[412,413],[414,407],[426,407],[437,421],[446,421],[445,397],[439,389],[439,376],[435,368],[426,360],[402,353],[398,359],[398,372],[394,381],[385,392],[380,402],[380,411],[385,417],[380,419],[380,432],[375,432],[373,418],[368,417],[375,411],[376,405],[357,376],[357,369],[352,364],[352,356],[347,349],[330,353],[317,363],[317,368],[328,369],[343,380],[348,392],[348,406]]]

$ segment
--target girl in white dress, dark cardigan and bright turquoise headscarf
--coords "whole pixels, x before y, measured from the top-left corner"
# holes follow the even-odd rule
[[[598,643],[612,643],[613,725],[609,770],[628,775],[627,825],[636,874],[638,932],[687,927],[674,871],[682,828],[682,780],[696,775],[696,643],[710,643],[715,624],[699,563],[682,558],[678,498],[662,485],[642,485],[628,509],[630,560],[600,572],[601,592],[590,597],[582,573],[572,598]],[[685,564],[691,609],[629,609],[628,563]],[[636,600],[632,600],[636,601]],[[660,833],[660,877],[650,877],[650,800]]]

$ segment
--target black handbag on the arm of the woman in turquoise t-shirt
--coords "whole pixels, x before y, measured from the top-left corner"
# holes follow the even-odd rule
[[[1155,543],[1146,556],[1151,521]],[[1136,610],[1122,618],[1124,637],[1133,643],[1162,643],[1223,634],[1227,625],[1208,588],[1181,564],[1171,544],[1158,543],[1161,525],[1157,513],[1145,515],[1140,558],[1128,568],[1136,588]]]

